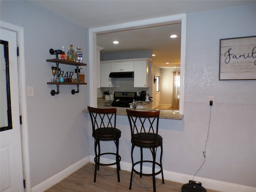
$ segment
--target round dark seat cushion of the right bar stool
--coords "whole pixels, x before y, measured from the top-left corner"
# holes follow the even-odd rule
[[[132,137],[132,143],[136,146],[152,148],[162,145],[162,136],[154,133],[137,133]]]

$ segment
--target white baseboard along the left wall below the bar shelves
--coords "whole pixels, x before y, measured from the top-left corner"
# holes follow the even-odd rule
[[[61,172],[58,172],[54,176],[46,179],[45,181],[41,182],[38,185],[32,187],[31,192],[43,192],[43,191],[47,190],[48,188],[54,186],[55,184],[57,184],[58,182],[60,182],[61,180],[63,180],[67,176],[69,176],[70,174],[76,172],[78,169],[80,169],[81,167],[86,165],[88,162],[89,162],[89,156],[81,159],[80,161],[70,165],[69,167],[62,170]]]

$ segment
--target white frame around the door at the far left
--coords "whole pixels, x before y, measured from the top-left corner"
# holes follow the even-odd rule
[[[24,179],[26,180],[26,188],[24,191],[31,191],[30,184],[30,167],[28,154],[28,121],[27,121],[27,106],[26,106],[26,81],[25,81],[25,60],[24,60],[24,29],[4,21],[0,21],[0,27],[9,31],[16,32],[17,46],[19,47],[18,56],[18,87],[19,87],[19,103],[20,115],[22,115],[21,125],[21,142],[22,142],[22,164]]]

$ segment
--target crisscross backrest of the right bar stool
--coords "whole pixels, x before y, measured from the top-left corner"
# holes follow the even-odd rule
[[[135,111],[126,109],[130,123],[132,138],[134,134],[143,138],[158,134],[158,122],[160,111]]]

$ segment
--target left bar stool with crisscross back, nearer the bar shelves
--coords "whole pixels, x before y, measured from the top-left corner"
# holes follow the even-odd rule
[[[119,138],[121,137],[121,131],[116,128],[116,108],[92,108],[88,106],[90,117],[92,120],[92,136],[94,137],[94,151],[95,151],[95,169],[94,169],[94,182],[96,182],[97,170],[100,165],[114,165],[116,164],[117,178],[120,182],[119,170],[121,157],[118,153]],[[100,141],[114,141],[116,145],[116,153],[100,151]],[[98,151],[97,151],[98,147]],[[100,156],[114,155],[116,160],[110,164],[104,164],[100,162]]]

